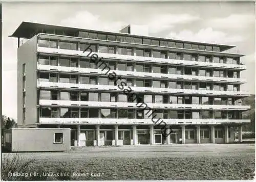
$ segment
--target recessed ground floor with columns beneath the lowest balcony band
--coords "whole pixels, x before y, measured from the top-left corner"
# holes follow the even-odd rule
[[[241,125],[170,125],[167,137],[154,125],[38,125],[40,128],[70,128],[71,146],[140,145],[172,143],[233,143]]]

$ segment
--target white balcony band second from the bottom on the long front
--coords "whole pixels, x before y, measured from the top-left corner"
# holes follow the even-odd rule
[[[230,105],[187,105],[187,104],[173,104],[173,103],[146,103],[147,107],[151,109],[193,109],[193,110],[249,110],[250,106],[230,106]],[[101,101],[73,101],[73,100],[39,100],[40,106],[51,107],[83,107],[83,108],[145,108],[139,102],[101,102]]]

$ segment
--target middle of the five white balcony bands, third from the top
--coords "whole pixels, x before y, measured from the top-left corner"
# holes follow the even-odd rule
[[[49,89],[67,89],[67,90],[88,90],[88,91],[115,91],[121,92],[115,85],[90,85],[90,84],[71,84],[58,82],[39,82],[37,87]],[[141,93],[168,93],[168,94],[193,94],[193,95],[220,95],[220,96],[249,96],[246,91],[217,91],[217,90],[190,90],[190,89],[169,89],[169,88],[153,88],[153,87],[131,87],[133,92]]]

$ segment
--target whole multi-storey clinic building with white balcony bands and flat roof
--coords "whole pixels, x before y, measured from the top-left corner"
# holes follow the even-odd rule
[[[70,128],[71,146],[241,141],[243,55],[131,29],[20,24],[18,126]]]

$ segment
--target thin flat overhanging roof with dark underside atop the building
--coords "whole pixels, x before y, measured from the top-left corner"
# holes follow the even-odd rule
[[[194,41],[185,41],[185,40],[178,40],[178,39],[167,39],[167,38],[162,38],[162,37],[141,36],[141,35],[133,35],[133,34],[127,34],[127,33],[118,33],[118,32],[96,31],[96,30],[80,29],[80,28],[72,28],[72,27],[63,27],[63,26],[59,26],[59,25],[41,24],[41,23],[33,23],[33,22],[26,22],[26,21],[23,21],[22,23],[20,23],[19,27],[9,37],[19,37],[19,38],[30,39],[32,34],[41,33],[42,29],[47,30],[47,31],[53,31],[53,30],[63,31],[63,32],[67,32],[69,34],[74,34],[74,33],[77,33],[78,31],[82,31],[82,32],[103,33],[103,34],[110,34],[110,35],[138,37],[138,38],[158,39],[158,40],[165,40],[165,41],[166,40],[167,41],[178,41],[178,42],[183,42],[183,43],[215,45],[215,46],[220,46],[221,51],[236,47],[234,45],[214,44],[214,43],[205,43],[205,42],[194,42]]]

